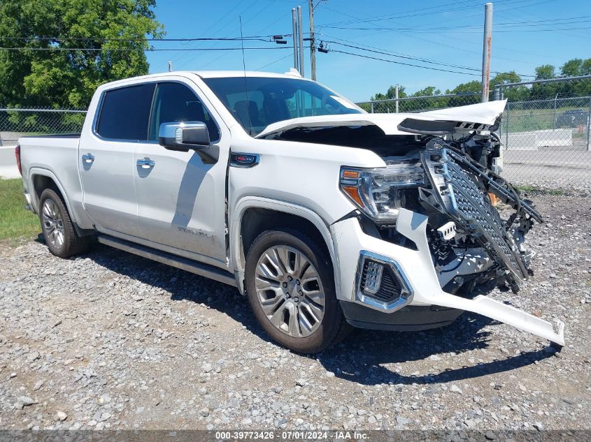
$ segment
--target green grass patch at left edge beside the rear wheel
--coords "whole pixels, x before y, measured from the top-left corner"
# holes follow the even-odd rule
[[[0,179],[0,241],[17,244],[41,232],[38,217],[25,204],[22,179]]]

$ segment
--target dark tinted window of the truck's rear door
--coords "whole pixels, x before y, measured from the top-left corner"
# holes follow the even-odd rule
[[[106,91],[97,133],[111,140],[148,140],[148,120],[155,87],[155,83],[144,83]]]

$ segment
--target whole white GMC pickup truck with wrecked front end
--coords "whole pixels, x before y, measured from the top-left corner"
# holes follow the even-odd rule
[[[294,73],[164,73],[99,87],[82,133],[20,138],[17,162],[56,256],[97,238],[235,286],[294,351],[463,311],[562,346],[485,296],[517,293],[541,221],[494,172],[504,106],[376,115]]]

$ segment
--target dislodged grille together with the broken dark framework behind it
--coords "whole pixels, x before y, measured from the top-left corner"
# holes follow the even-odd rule
[[[422,163],[431,189],[420,189],[421,198],[478,239],[497,263],[499,279],[517,293],[519,281],[528,276],[529,256],[522,247],[523,237],[541,216],[504,179],[443,140],[429,142]],[[507,221],[492,206],[489,191],[515,209]]]

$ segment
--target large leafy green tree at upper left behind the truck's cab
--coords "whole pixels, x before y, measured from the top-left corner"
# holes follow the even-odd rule
[[[0,38],[0,105],[83,108],[99,84],[148,73],[145,38],[164,35],[154,7],[155,0],[0,2],[0,36],[10,37]]]

